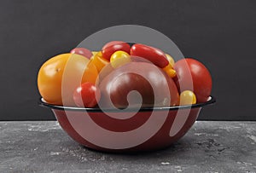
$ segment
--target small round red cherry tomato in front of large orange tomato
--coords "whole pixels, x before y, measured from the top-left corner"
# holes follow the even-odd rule
[[[78,107],[95,107],[100,97],[100,89],[89,82],[81,84],[73,93],[73,101]]]

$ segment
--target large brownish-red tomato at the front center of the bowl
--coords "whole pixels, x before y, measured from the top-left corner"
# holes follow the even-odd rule
[[[131,107],[138,107],[140,103],[142,107],[168,107],[176,106],[179,102],[177,87],[172,78],[148,62],[130,62],[114,69],[103,78],[100,89],[102,107],[111,107],[110,102],[114,107],[127,107],[127,95],[134,90],[142,96],[142,102],[136,96],[131,96]]]

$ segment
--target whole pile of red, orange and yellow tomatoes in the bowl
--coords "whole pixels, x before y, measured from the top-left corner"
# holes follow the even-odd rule
[[[70,87],[63,95],[62,78],[71,56],[70,84],[78,74],[82,78],[79,86]],[[142,107],[168,107],[207,101],[212,78],[207,67],[195,59],[175,62],[160,49],[113,41],[98,52],[75,48],[50,58],[38,72],[38,90],[44,101],[59,106],[65,97],[65,106],[69,107],[97,107],[99,103],[104,107],[136,107],[140,101],[131,99],[128,103],[127,95],[137,90]],[[160,97],[155,96],[157,92]],[[164,95],[170,95],[170,99]]]

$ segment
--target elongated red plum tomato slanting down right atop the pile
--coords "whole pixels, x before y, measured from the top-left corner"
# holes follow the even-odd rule
[[[163,68],[169,64],[166,54],[162,50],[140,43],[131,46],[131,55],[143,57],[160,68]]]

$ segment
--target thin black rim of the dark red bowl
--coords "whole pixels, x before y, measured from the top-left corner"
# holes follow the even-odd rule
[[[196,103],[193,105],[183,105],[183,106],[172,106],[172,107],[142,107],[139,109],[139,112],[150,112],[150,111],[172,111],[177,109],[189,109],[189,108],[199,108],[205,107],[207,105],[212,105],[216,102],[216,98],[212,95],[208,97],[208,101],[203,103]],[[137,107],[127,108],[127,109],[113,109],[113,108],[104,108],[102,110],[100,107],[64,107],[49,104],[44,101],[44,98],[39,99],[38,105],[42,107],[48,107],[50,109],[62,110],[62,111],[79,111],[79,112],[137,112]]]

